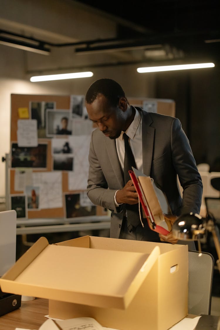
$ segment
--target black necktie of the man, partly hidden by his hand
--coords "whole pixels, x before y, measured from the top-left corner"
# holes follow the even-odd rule
[[[123,138],[125,143],[124,182],[126,184],[129,180],[131,180],[128,171],[132,170],[132,166],[136,168],[136,163],[131,147],[128,142],[129,138],[125,133],[123,134]],[[134,205],[126,204],[126,210],[127,210],[128,224],[137,227],[137,225],[140,223],[138,203]],[[132,230],[132,227],[130,229]]]

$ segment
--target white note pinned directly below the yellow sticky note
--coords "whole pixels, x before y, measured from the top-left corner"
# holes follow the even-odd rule
[[[18,119],[17,121],[18,147],[37,147],[37,119]]]

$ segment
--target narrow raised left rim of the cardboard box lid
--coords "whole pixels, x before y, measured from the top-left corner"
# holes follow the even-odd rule
[[[15,280],[16,277],[48,246],[45,237],[40,237],[37,242],[30,247],[1,278],[0,284],[4,279]]]

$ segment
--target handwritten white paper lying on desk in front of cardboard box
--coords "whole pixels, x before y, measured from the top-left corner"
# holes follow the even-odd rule
[[[67,320],[56,321],[62,330],[103,330],[101,324],[99,324],[92,317],[77,317]]]

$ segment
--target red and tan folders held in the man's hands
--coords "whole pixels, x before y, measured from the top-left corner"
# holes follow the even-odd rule
[[[170,220],[165,216],[171,214],[166,195],[157,187],[153,179],[132,167],[129,171],[131,180],[136,188],[150,229],[167,235],[172,229]]]

